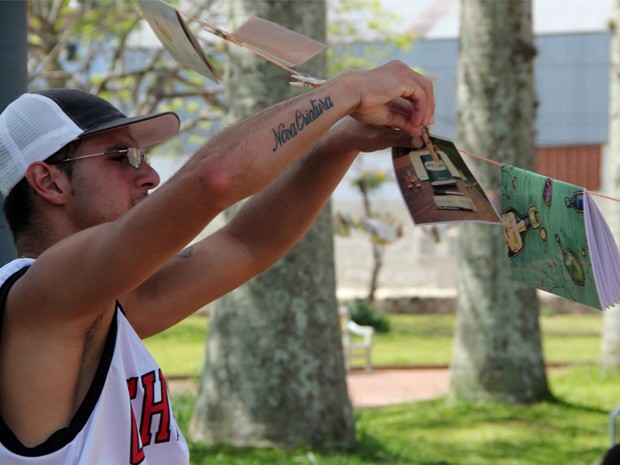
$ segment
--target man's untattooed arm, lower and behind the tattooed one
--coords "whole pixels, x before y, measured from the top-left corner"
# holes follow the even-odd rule
[[[126,296],[132,325],[143,337],[156,334],[266,270],[311,227],[360,151],[410,143],[404,131],[346,118],[224,228]]]

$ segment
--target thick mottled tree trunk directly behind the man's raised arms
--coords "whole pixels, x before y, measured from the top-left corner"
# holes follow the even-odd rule
[[[230,4],[234,26],[259,16],[325,40],[323,1]],[[229,47],[226,60],[235,120],[294,92],[286,72],[247,51]],[[313,64],[307,72],[325,74],[324,57]],[[354,425],[335,295],[326,208],[286,257],[214,306],[190,435],[234,446],[350,446]]]

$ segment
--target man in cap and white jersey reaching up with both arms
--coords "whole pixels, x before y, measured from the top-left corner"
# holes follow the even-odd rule
[[[176,133],[176,115],[126,118],[66,89],[13,102],[0,189],[20,258],[0,270],[0,463],[187,463],[139,339],[268,268],[359,151],[421,145],[433,111],[431,82],[403,63],[351,73],[226,129],[149,195],[159,177],[140,149]]]

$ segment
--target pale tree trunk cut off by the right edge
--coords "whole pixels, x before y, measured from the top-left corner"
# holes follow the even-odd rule
[[[612,42],[610,51],[611,74],[609,79],[609,146],[607,150],[607,185],[610,195],[620,196],[620,0],[614,0],[610,21]],[[609,204],[609,227],[614,237],[620,235],[620,205]],[[620,368],[620,305],[607,310],[603,320],[602,365]]]

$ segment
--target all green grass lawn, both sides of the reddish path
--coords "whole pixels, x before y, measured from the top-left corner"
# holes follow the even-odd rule
[[[375,365],[450,361],[453,315],[391,315],[376,334]],[[205,317],[192,317],[150,338],[164,372],[197,376]],[[602,315],[541,317],[547,362],[596,362]],[[554,399],[529,406],[451,403],[445,398],[356,412],[354,450],[233,450],[191,444],[192,465],[597,465],[608,447],[609,411],[620,403],[620,373],[573,364],[549,373]],[[187,429],[193,397],[175,398]]]

